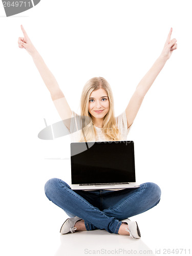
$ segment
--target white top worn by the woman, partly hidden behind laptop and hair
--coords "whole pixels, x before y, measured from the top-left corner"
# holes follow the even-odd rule
[[[71,142],[78,142],[80,139],[81,135],[81,130],[80,130],[80,116],[77,115],[74,111],[72,111],[72,117],[71,117],[71,125],[70,125],[70,137],[71,137]],[[116,124],[118,126],[118,129],[121,133],[122,140],[127,139],[127,135],[132,127],[132,125],[127,129],[127,120],[126,120],[126,113],[125,111],[122,112],[119,116],[116,118]],[[98,139],[96,141],[109,141],[106,140],[106,138],[103,135],[103,132],[100,127],[95,126],[95,129],[97,131],[97,136]],[[124,188],[114,188],[114,189],[104,189],[104,190],[121,190]],[[97,189],[84,189],[84,190],[97,190]]]

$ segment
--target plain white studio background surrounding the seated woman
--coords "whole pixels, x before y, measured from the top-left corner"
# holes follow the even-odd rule
[[[1,26],[1,249],[2,255],[54,255],[67,215],[44,194],[50,178],[69,180],[70,138],[37,138],[60,121],[31,56],[19,49],[23,24],[79,113],[84,83],[111,84],[115,115],[160,55],[170,27],[178,49],[147,92],[127,140],[135,142],[138,182],[155,182],[160,203],[132,217],[155,250],[190,248],[191,229],[191,1],[41,0],[6,17]],[[192,251],[191,251],[192,252]],[[184,253],[183,253],[184,254]]]

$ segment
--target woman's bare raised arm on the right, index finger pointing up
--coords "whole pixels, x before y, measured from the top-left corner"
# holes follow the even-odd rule
[[[146,73],[146,75],[141,79],[133,96],[130,99],[129,104],[126,107],[126,119],[127,119],[127,127],[130,127],[139,111],[143,98],[147,91],[152,86],[156,77],[164,67],[167,59],[170,58],[172,52],[177,49],[176,39],[170,40],[170,36],[172,35],[172,28],[170,28],[169,34],[167,36],[163,51],[161,55],[157,58],[154,65],[151,69]]]

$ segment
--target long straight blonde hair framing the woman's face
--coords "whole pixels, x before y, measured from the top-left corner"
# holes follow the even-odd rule
[[[104,89],[109,99],[109,112],[104,116],[103,127],[101,129],[106,140],[109,141],[118,141],[121,140],[121,134],[117,127],[116,120],[114,117],[114,99],[110,84],[103,77],[93,77],[84,85],[81,100],[80,100],[80,109],[81,117],[86,116],[90,117],[90,122],[85,123],[82,118],[82,129],[81,129],[81,138],[79,142],[83,141],[96,141],[97,132],[93,124],[91,114],[89,113],[89,98],[91,93],[94,90]],[[88,120],[88,119],[87,119]]]

